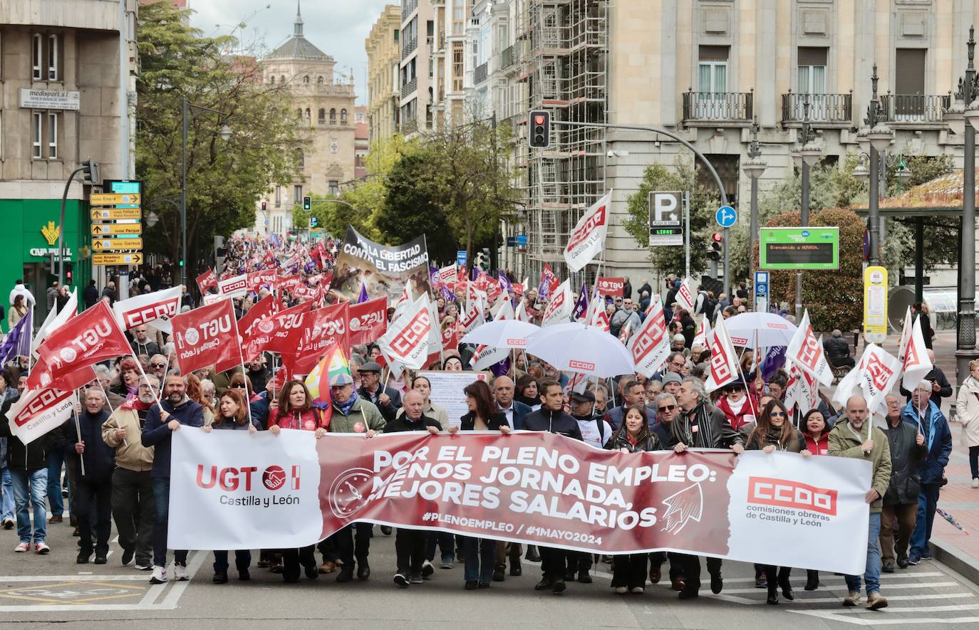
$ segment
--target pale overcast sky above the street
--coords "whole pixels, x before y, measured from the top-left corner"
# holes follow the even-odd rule
[[[400,2],[303,0],[303,35],[336,60],[338,72],[347,75],[353,71],[358,105],[366,104],[364,39],[388,4]],[[263,44],[266,52],[292,37],[293,22],[296,22],[296,0],[189,0],[188,5],[194,10],[191,25],[205,35],[231,33],[245,44]],[[245,27],[235,30],[241,22],[245,22]]]

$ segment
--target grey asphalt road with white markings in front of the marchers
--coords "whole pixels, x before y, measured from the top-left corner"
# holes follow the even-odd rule
[[[939,624],[979,628],[979,589],[934,561],[884,575],[882,592],[889,598],[890,607],[868,611],[841,606],[846,587],[840,576],[823,574],[823,585],[817,591],[803,591],[804,571],[796,571],[793,578],[797,589],[794,602],[782,600],[777,607],[767,606],[765,591],[754,588],[752,566],[742,562],[724,563],[720,596],[710,593],[705,579],[702,596],[694,602],[678,601],[666,580],[647,586],[643,595],[615,595],[609,587],[608,564],[595,567],[593,584],[569,584],[563,595],[534,591],[539,571],[529,563],[524,565],[523,576],[507,576],[505,582],[493,583],[489,590],[464,591],[460,563],[451,569],[437,568],[424,584],[399,589],[392,582],[394,536],[382,535],[379,527],[375,527],[371,547],[373,574],[367,582],[338,584],[334,575],[324,575],[315,581],[301,578],[298,584],[286,585],[279,575],[253,567],[251,582],[238,582],[232,570],[228,584],[214,585],[210,582],[210,553],[192,552],[190,581],[152,586],[147,572],[120,565],[116,543],[108,564],[76,564],[77,539],[70,531],[67,517],[63,524],[49,525],[52,553],[44,557],[15,554],[15,532],[0,530],[0,628],[58,625],[99,630],[293,630],[322,628],[324,621],[331,628],[351,630],[737,630],[756,629],[760,624],[793,629],[853,625],[934,628]],[[664,565],[664,573],[666,568]]]

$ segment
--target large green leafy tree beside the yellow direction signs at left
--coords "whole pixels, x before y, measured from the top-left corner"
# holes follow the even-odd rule
[[[144,235],[148,251],[180,258],[181,105],[194,115],[187,139],[186,263],[197,268],[215,235],[255,222],[256,202],[270,183],[287,184],[296,170],[295,118],[282,86],[259,81],[254,59],[229,57],[230,37],[204,37],[168,2],[142,5],[137,22],[140,73],[136,80],[136,176],[144,207],[160,223]],[[208,108],[227,114],[222,119]],[[223,124],[232,130],[222,140]]]

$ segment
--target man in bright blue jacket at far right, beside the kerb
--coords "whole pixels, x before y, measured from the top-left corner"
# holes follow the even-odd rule
[[[952,430],[949,428],[949,421],[935,404],[933,394],[934,382],[919,382],[911,391],[911,401],[901,413],[906,423],[917,427],[922,443],[927,448],[924,461],[917,467],[921,489],[918,492],[917,516],[910,540],[909,564],[931,560],[928,541],[931,539],[931,528],[938,509],[938,490],[948,483],[945,467],[949,465],[949,457],[952,456]]]

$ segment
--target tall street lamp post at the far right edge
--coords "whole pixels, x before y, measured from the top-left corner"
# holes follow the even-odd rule
[[[979,125],[979,84],[975,59],[975,28],[969,27],[968,65],[964,79],[958,81],[956,100],[965,104],[965,155],[962,172],[962,223],[958,252],[958,322],[956,326],[956,382],[961,386],[969,375],[969,361],[976,358],[976,125]]]

